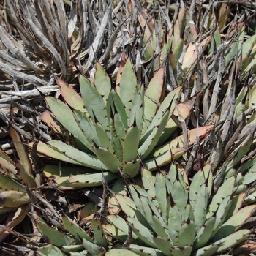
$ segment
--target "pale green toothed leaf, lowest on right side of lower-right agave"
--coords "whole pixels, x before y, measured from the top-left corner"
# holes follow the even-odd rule
[[[240,244],[242,241],[246,240],[249,237],[251,232],[249,230],[239,230],[230,236],[222,238],[218,242],[220,243],[217,253],[225,252],[227,249]]]

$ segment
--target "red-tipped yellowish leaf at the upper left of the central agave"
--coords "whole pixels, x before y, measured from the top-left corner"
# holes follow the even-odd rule
[[[75,89],[73,89],[72,86],[69,86],[69,84],[65,83],[64,80],[61,80],[60,78],[56,78],[56,83],[59,86],[61,95],[65,102],[67,102],[67,104],[71,108],[79,110],[82,113],[86,113],[86,108],[84,106],[83,99],[75,91]]]

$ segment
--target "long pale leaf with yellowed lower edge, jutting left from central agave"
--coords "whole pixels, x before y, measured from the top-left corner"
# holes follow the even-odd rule
[[[32,147],[33,144],[34,143],[29,143],[29,146]],[[105,165],[103,165],[97,157],[79,151],[59,140],[50,140],[47,144],[39,141],[37,151],[48,157],[70,162],[75,165],[91,167],[96,170],[107,170]]]

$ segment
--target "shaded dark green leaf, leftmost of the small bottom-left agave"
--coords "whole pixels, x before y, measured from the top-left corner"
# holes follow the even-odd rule
[[[42,233],[42,236],[48,238],[50,243],[53,245],[65,246],[74,242],[74,240],[70,236],[67,236],[64,233],[61,233],[58,230],[49,227],[48,225],[39,220],[37,220],[36,225],[40,233]]]

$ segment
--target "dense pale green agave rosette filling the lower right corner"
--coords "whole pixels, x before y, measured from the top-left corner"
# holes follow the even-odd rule
[[[122,242],[131,234],[133,255],[219,255],[245,241],[251,231],[242,226],[256,210],[255,204],[245,206],[254,201],[255,189],[248,193],[248,188],[255,185],[255,159],[239,170],[236,166],[252,140],[245,140],[219,169],[222,179],[219,173],[213,176],[210,163],[191,183],[184,169],[173,164],[167,175],[159,171],[154,176],[143,168],[143,187],[127,181],[131,197],[115,195],[126,217],[108,216],[112,225],[105,225],[105,231]],[[113,249],[116,255],[125,250]]]

